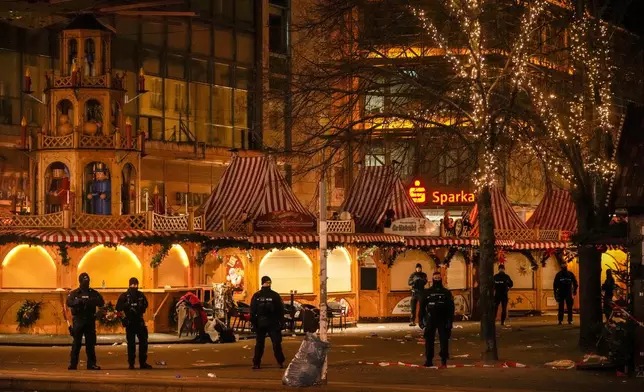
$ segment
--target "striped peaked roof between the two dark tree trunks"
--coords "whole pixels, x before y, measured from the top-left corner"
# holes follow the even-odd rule
[[[531,229],[576,232],[577,210],[570,192],[555,189],[546,193],[526,225]]]

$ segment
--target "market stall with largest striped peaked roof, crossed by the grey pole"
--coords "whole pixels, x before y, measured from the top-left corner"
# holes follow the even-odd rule
[[[239,260],[245,280],[244,299],[259,289],[264,275],[288,303],[319,305],[320,263],[317,220],[295,197],[272,157],[235,156],[208,201],[200,208],[209,231],[247,235],[249,248],[237,254],[222,250],[206,258],[213,281],[228,278],[227,260]],[[402,246],[395,235],[355,234],[349,219],[328,221],[328,298],[343,316],[358,317],[358,249],[374,244]],[[238,261],[235,261],[238,263]],[[222,266],[226,266],[222,268]],[[233,272],[237,274],[237,272]]]

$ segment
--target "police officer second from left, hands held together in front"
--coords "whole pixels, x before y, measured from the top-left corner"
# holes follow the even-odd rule
[[[123,312],[123,326],[127,339],[127,362],[130,369],[134,369],[136,359],[136,342],[139,338],[139,367],[141,369],[152,369],[147,363],[148,360],[148,327],[145,325],[143,315],[148,308],[148,300],[139,291],[139,280],[130,278],[129,288],[119,297],[116,302],[116,310]]]

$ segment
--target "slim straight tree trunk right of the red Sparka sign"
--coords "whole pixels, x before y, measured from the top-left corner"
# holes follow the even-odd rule
[[[484,187],[478,197],[479,208],[479,311],[481,314],[481,340],[484,361],[496,361],[499,353],[496,347],[496,326],[494,312],[494,218],[490,188]]]

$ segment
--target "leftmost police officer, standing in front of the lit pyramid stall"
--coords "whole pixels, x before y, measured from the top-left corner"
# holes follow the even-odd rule
[[[87,353],[87,370],[101,370],[96,365],[96,307],[105,306],[103,297],[98,291],[89,287],[89,275],[85,272],[78,277],[79,287],[67,296],[67,307],[72,311],[72,353],[69,370],[78,367],[78,355],[85,336]]]

